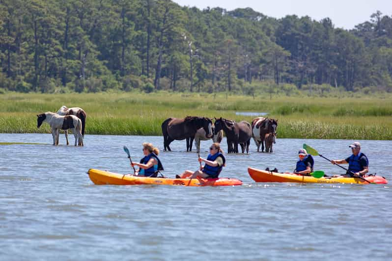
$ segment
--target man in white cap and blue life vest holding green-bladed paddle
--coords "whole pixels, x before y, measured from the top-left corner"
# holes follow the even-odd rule
[[[361,143],[358,141],[353,142],[350,146],[352,155],[345,159],[335,159],[331,160],[332,164],[347,164],[348,163],[348,171],[346,174],[341,175],[341,177],[349,178],[355,175],[363,176],[367,172],[369,172],[369,160],[367,157],[361,152]]]

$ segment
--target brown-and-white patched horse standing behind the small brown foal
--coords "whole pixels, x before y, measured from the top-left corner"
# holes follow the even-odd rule
[[[275,137],[276,137],[277,128],[278,128],[278,120],[275,119],[257,117],[252,120],[252,137],[254,143],[256,143],[257,152],[260,151],[260,145],[261,145],[261,152],[264,152],[264,140],[265,140],[265,134],[267,133],[274,134],[274,143],[276,143]]]

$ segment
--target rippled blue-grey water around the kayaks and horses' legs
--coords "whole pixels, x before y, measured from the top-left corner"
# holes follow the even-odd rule
[[[51,134],[0,134],[51,143]],[[88,168],[129,173],[141,143],[162,137],[86,135],[86,146],[0,146],[0,260],[391,260],[390,185],[254,183],[247,167],[294,168],[302,144],[326,157],[350,140],[277,139],[273,154],[228,155],[237,187],[93,185]],[[70,142],[73,142],[73,136]],[[361,141],[371,171],[392,181],[392,141]],[[64,144],[64,137],[60,137]],[[225,141],[223,142],[225,144]],[[201,143],[201,156],[210,142]],[[198,168],[185,141],[161,154],[165,174]],[[224,150],[226,146],[224,145]],[[315,158],[315,169],[339,168]]]

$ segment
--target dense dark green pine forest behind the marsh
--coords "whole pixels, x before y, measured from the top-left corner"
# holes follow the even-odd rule
[[[0,88],[215,92],[272,82],[391,92],[392,16],[369,15],[345,30],[329,18],[170,0],[0,0]]]

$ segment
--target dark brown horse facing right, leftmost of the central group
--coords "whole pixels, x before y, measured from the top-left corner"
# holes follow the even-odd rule
[[[171,151],[169,145],[173,140],[187,139],[187,152],[192,149],[196,131],[203,128],[205,137],[212,137],[212,121],[206,117],[187,116],[181,118],[168,118],[162,123],[164,137],[164,150]]]

